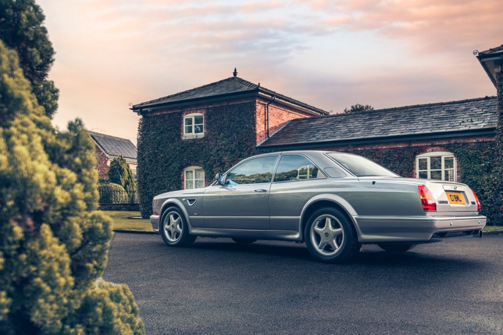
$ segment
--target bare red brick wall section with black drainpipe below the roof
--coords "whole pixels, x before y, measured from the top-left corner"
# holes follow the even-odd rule
[[[265,99],[257,98],[257,114],[255,129],[257,132],[257,144],[267,138],[267,103]],[[269,136],[274,134],[285,123],[293,119],[306,118],[314,116],[312,113],[302,111],[283,105],[279,102],[273,102],[269,105]]]

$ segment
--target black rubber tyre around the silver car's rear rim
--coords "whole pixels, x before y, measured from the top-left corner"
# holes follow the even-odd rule
[[[311,227],[314,224],[314,220],[323,214],[335,216],[341,222],[344,229],[345,240],[343,246],[340,252],[333,256],[323,256],[319,254],[311,242]],[[346,214],[336,208],[330,207],[317,209],[311,214],[304,228],[304,241],[311,256],[313,256],[316,260],[325,263],[344,263],[349,261],[356,253],[358,253],[361,247],[361,244],[358,242],[358,238],[353,230],[353,226]]]

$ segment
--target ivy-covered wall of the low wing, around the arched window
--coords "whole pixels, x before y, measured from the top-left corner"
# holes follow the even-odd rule
[[[487,224],[503,225],[503,190],[496,169],[497,150],[494,141],[435,145],[454,153],[460,173],[459,182],[477,194]],[[415,177],[415,156],[430,146],[386,149],[347,150],[365,156],[403,177]]]

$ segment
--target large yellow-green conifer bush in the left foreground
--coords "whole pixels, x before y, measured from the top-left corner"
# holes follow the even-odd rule
[[[1,40],[0,73],[0,333],[143,333],[129,288],[100,279],[112,227],[88,132],[56,132]]]

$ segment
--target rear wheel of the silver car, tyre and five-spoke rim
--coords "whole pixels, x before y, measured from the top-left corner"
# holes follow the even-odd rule
[[[304,241],[311,256],[324,263],[347,262],[362,247],[345,213],[331,207],[320,208],[309,217]]]

